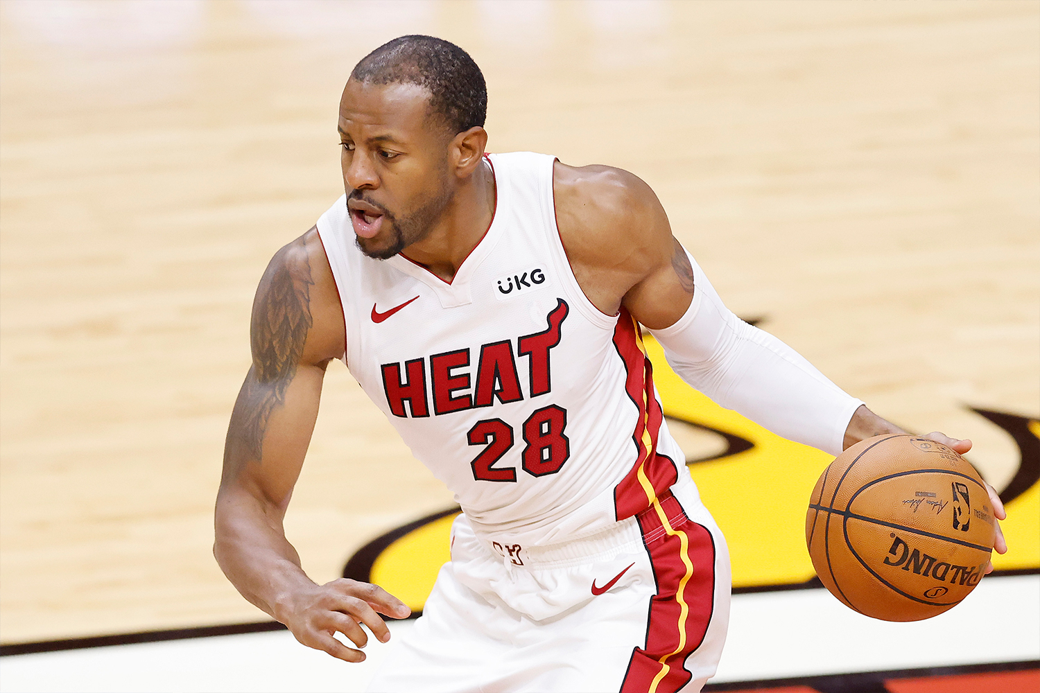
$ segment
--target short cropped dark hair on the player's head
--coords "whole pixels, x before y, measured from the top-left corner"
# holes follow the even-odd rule
[[[484,127],[488,87],[469,53],[434,36],[389,41],[361,59],[350,77],[366,84],[416,84],[430,91],[430,110],[452,134]]]

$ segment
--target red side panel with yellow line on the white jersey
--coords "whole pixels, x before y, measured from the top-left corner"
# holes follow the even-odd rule
[[[624,519],[649,508],[653,499],[665,496],[678,477],[675,462],[657,455],[657,434],[664,415],[654,392],[653,369],[643,348],[643,336],[624,308],[614,328],[614,346],[625,363],[625,391],[640,411],[632,432],[639,451],[635,464],[614,489],[615,513],[618,519]]]

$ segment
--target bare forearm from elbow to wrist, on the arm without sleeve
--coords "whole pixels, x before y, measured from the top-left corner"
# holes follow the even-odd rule
[[[216,500],[213,555],[235,588],[278,618],[280,603],[314,582],[285,537],[281,512],[251,495],[222,491]]]

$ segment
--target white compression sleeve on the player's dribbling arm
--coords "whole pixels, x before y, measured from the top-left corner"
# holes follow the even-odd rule
[[[789,346],[733,315],[700,266],[693,258],[690,262],[690,309],[671,327],[650,330],[672,369],[722,406],[774,433],[840,453],[846,428],[862,402]]]

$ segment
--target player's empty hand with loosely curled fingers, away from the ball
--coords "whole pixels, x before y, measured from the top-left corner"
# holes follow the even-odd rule
[[[364,647],[368,643],[368,635],[360,625],[364,623],[380,642],[386,642],[390,631],[380,614],[406,618],[412,613],[404,602],[382,587],[345,578],[297,591],[277,611],[278,620],[289,628],[296,640],[344,662],[364,662],[365,654],[347,647],[333,633],[338,631],[358,647]]]

